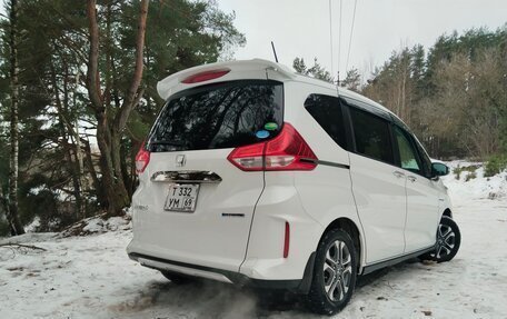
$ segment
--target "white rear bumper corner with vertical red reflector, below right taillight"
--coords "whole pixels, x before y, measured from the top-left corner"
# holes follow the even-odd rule
[[[308,172],[266,172],[266,188],[256,207],[241,273],[268,280],[302,278],[324,228],[301,206],[294,185],[298,173]],[[286,221],[290,226],[288,258],[284,258]]]

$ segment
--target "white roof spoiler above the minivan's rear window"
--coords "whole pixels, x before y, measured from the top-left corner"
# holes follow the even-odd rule
[[[294,79],[297,77],[297,74],[288,67],[262,59],[218,62],[198,66],[173,73],[157,83],[157,92],[162,99],[167,100],[167,98],[169,98],[169,96],[173,92],[191,87],[191,84],[182,83],[185,79],[206,71],[223,69],[230,70],[231,74],[236,72],[270,70],[287,79]]]

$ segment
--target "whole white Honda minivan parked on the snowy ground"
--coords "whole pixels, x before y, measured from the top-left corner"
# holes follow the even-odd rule
[[[158,92],[127,248],[142,266],[292,290],[331,315],[358,275],[457,253],[448,168],[380,104],[258,59],[187,69]]]

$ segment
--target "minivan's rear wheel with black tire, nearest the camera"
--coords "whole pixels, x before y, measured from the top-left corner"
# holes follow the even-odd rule
[[[341,229],[328,231],[317,248],[307,296],[309,308],[320,315],[339,312],[352,297],[356,277],[357,252],[352,239]]]

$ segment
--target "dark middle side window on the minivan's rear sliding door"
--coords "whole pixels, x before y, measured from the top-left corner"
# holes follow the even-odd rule
[[[389,122],[356,108],[350,108],[356,151],[372,159],[394,163]]]

